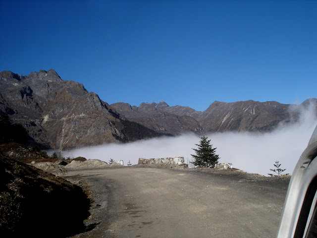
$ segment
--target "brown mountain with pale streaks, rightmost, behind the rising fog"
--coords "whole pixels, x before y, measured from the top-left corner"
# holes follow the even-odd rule
[[[277,102],[213,102],[197,118],[206,131],[269,131],[290,122],[289,105]]]

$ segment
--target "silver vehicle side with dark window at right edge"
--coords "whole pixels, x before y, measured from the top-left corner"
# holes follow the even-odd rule
[[[317,237],[317,127],[290,180],[277,238]]]

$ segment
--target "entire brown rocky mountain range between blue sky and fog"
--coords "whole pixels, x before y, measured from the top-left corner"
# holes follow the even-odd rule
[[[67,149],[110,142],[129,142],[161,135],[224,131],[271,131],[299,119],[300,105],[275,101],[213,102],[204,112],[165,102],[108,105],[75,81],[62,80],[50,69],[27,76],[0,72],[0,115],[21,123],[33,143]]]

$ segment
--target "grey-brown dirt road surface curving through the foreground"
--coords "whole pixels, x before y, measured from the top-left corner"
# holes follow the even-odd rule
[[[157,168],[69,171],[95,198],[74,238],[273,238],[289,179]]]

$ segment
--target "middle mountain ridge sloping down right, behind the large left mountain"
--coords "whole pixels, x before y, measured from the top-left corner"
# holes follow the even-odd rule
[[[179,135],[184,132],[202,133],[202,127],[194,118],[164,112],[163,110],[168,107],[164,102],[142,103],[139,107],[127,103],[114,103],[110,106],[127,119],[160,133],[170,135]]]

